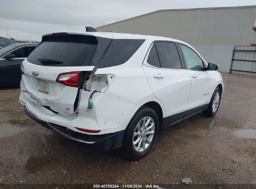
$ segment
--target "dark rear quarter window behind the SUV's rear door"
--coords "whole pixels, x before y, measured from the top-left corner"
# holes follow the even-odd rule
[[[127,62],[145,40],[114,39],[99,68],[113,67]]]

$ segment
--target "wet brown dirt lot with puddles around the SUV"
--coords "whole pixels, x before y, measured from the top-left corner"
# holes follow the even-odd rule
[[[19,88],[0,89],[0,183],[256,183],[256,78],[223,74],[215,118],[161,132],[139,162],[90,150],[29,119]]]

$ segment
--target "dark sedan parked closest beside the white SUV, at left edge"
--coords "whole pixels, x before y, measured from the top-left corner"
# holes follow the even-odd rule
[[[0,49],[0,86],[21,83],[21,62],[38,44],[12,44]]]

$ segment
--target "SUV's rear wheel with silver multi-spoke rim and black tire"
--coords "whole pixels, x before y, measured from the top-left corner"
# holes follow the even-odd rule
[[[143,107],[131,119],[125,131],[122,155],[136,161],[145,157],[158,136],[159,121],[154,109]]]

